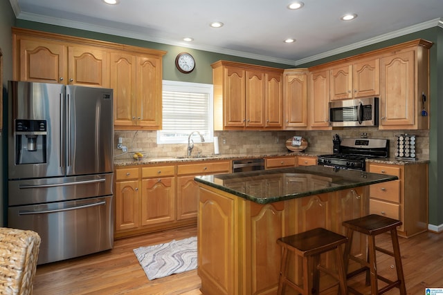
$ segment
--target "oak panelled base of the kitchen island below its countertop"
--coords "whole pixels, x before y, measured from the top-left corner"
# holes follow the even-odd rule
[[[278,186],[280,183],[267,185]],[[300,185],[296,179],[293,185]],[[315,185],[315,184],[311,184]],[[265,188],[266,189],[266,188]],[[198,274],[206,295],[276,294],[282,236],[324,227],[345,235],[344,220],[368,215],[369,187],[355,187],[280,202],[259,204],[199,183]],[[365,254],[365,238],[356,236],[352,254]],[[334,267],[333,257],[322,258]],[[295,263],[295,265],[294,265]],[[289,269],[298,283],[301,265]],[[320,289],[334,279],[321,279]],[[287,288],[290,289],[290,288]],[[288,290],[289,291],[289,290]]]

